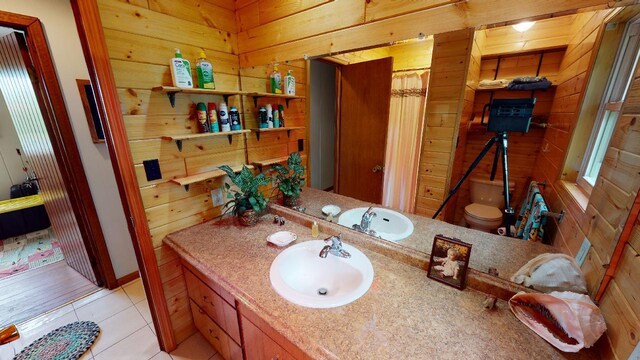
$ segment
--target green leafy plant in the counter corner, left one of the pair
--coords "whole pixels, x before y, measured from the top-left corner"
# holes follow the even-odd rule
[[[224,205],[225,213],[231,211],[235,216],[242,216],[247,210],[260,213],[267,208],[267,199],[260,191],[260,187],[269,184],[270,177],[264,173],[254,176],[246,166],[243,166],[237,174],[228,165],[220,166],[219,169],[227,173],[231,182],[238,188],[234,189],[225,182],[227,198],[231,199]]]

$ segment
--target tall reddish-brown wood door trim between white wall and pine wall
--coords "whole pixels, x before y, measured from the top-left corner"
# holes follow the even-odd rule
[[[132,165],[133,157],[127,141],[98,4],[95,0],[71,0],[71,6],[91,82],[94,85],[102,127],[111,155],[111,164],[128,220],[129,232],[138,259],[140,277],[144,283],[151,308],[153,324],[158,334],[160,348],[169,352],[176,348],[176,339],[171,326],[169,308],[162,288],[160,271],[151,242],[151,233],[140,196],[138,180]]]

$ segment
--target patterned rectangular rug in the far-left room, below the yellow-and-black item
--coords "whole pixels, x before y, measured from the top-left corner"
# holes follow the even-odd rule
[[[51,229],[0,240],[0,279],[62,259]]]

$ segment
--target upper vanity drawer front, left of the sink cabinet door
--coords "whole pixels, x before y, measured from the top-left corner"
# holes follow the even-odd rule
[[[231,305],[200,281],[188,269],[184,269],[189,297],[195,302],[213,321],[218,324],[236,343],[240,341],[240,327],[238,326],[238,313]]]

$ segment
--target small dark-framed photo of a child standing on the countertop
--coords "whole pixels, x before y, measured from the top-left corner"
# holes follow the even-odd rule
[[[427,276],[462,290],[467,278],[470,256],[471,244],[459,239],[436,235],[433,238]]]

